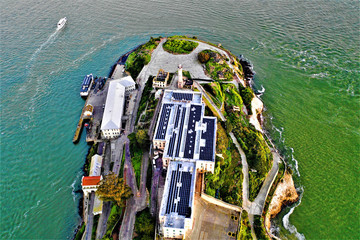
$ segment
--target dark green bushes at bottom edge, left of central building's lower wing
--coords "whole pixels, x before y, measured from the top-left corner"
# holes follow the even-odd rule
[[[149,208],[146,208],[136,214],[134,239],[152,240],[154,235],[155,218],[151,216]]]

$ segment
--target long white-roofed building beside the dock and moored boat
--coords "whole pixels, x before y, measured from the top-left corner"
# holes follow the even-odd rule
[[[103,138],[110,139],[120,136],[121,118],[125,105],[125,87],[121,80],[113,80],[109,84],[106,97],[104,115],[101,123],[101,134]]]

